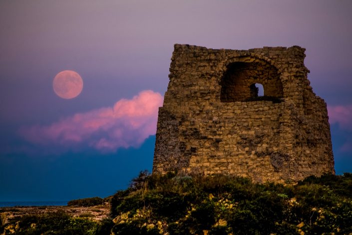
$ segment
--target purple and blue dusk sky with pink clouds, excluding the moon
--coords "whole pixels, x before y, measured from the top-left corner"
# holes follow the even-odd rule
[[[350,0],[0,1],[0,201],[105,197],[151,170],[174,43],[305,47],[336,171],[352,172],[351,12]],[[81,75],[78,97],[54,94],[62,70]]]

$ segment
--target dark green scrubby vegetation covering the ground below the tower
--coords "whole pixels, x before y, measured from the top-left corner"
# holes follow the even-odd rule
[[[296,185],[255,184],[214,175],[141,172],[111,198],[111,219],[58,211],[24,216],[6,234],[314,235],[352,233],[352,174],[309,177]]]

